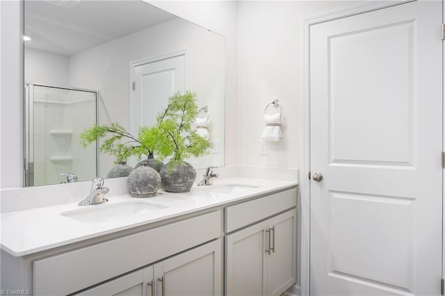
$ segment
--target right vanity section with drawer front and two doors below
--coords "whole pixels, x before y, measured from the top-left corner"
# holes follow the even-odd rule
[[[296,282],[296,189],[229,206],[225,220],[227,295],[281,295]]]

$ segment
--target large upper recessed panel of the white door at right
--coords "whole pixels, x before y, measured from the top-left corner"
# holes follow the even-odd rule
[[[328,38],[330,163],[412,166],[414,20],[367,26]]]

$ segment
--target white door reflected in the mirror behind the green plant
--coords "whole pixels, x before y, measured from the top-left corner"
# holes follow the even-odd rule
[[[186,90],[185,53],[170,57],[138,60],[131,63],[133,100],[130,102],[131,133],[140,126],[153,126],[156,117],[167,107],[168,98]],[[132,106],[131,106],[132,105]],[[130,161],[131,165],[134,161]]]

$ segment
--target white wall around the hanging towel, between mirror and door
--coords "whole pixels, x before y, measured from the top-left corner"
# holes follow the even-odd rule
[[[353,1],[240,1],[238,3],[238,163],[300,167],[302,163],[302,19]],[[264,108],[278,99],[284,138],[259,155]]]

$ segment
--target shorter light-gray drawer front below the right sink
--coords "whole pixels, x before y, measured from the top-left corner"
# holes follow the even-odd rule
[[[297,188],[261,197],[225,208],[225,232],[231,232],[246,225],[275,215],[297,205]]]

